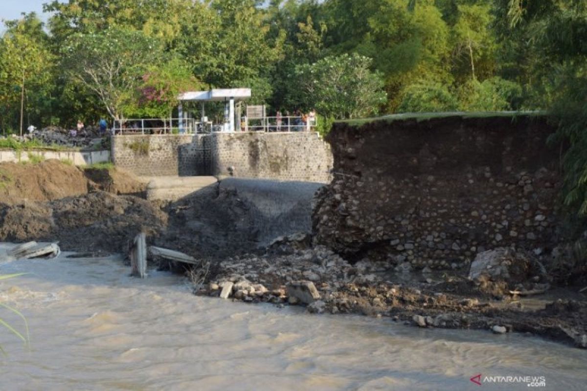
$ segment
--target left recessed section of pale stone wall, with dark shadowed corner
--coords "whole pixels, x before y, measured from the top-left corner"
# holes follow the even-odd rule
[[[136,175],[210,175],[207,144],[206,135],[117,135],[112,159]]]

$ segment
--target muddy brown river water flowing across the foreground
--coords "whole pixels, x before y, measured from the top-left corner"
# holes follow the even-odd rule
[[[65,255],[0,263],[0,274],[28,273],[0,281],[0,302],[30,329],[28,348],[0,328],[0,390],[529,389],[480,387],[478,374],[587,388],[587,351],[533,336],[195,297],[181,277],[138,280],[116,257]],[[23,330],[11,312],[0,318]]]

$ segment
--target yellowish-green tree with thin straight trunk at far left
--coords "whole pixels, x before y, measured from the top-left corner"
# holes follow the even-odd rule
[[[30,86],[42,86],[50,79],[52,55],[35,29],[42,23],[34,13],[19,21],[7,23],[8,30],[2,37],[0,54],[0,101],[10,106],[20,100],[20,134],[23,131],[26,90]]]

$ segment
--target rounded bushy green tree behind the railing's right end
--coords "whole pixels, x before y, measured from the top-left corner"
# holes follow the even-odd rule
[[[381,74],[369,70],[371,63],[367,57],[345,54],[299,65],[297,103],[339,119],[376,114],[387,95]]]

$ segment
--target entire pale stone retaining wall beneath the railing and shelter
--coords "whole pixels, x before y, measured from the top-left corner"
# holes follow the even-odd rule
[[[330,181],[330,146],[315,132],[116,135],[114,164],[143,176]]]

